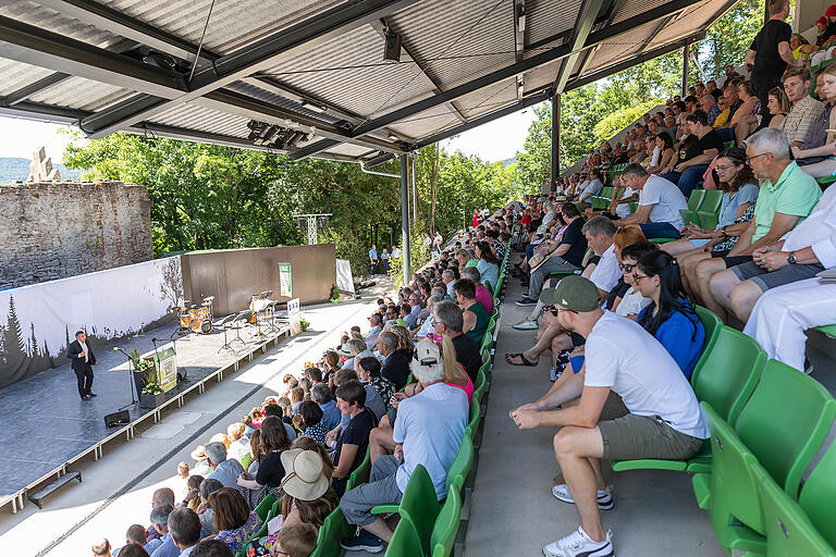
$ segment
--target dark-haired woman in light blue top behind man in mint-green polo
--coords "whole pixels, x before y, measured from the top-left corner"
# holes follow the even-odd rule
[[[683,237],[677,242],[669,242],[662,249],[681,260],[689,251],[697,251],[714,237],[722,237],[725,226],[734,224],[749,206],[758,201],[758,178],[752,169],[746,163],[746,151],[739,147],[733,147],[724,151],[714,166],[720,178],[718,188],[723,190],[723,200],[720,205],[720,220],[717,225],[711,228],[701,228],[693,223],[688,223],[681,230]],[[697,248],[697,249],[694,249]]]

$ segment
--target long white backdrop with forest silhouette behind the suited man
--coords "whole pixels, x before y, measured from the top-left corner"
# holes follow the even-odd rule
[[[180,257],[0,292],[0,387],[66,362],[76,331],[101,350],[168,322],[182,302]]]

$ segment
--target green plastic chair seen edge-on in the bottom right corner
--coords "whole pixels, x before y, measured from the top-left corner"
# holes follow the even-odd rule
[[[766,529],[766,557],[835,556],[836,552],[810,521],[813,515],[806,515],[761,466],[754,467],[754,474],[759,481]],[[832,507],[831,502],[831,508],[825,509],[828,515],[833,515]]]

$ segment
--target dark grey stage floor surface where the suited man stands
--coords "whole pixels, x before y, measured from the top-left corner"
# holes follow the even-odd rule
[[[153,349],[151,338],[158,338],[157,348],[161,349],[171,346],[168,338],[175,329],[174,323],[153,329],[118,346],[126,352],[136,348],[145,354]],[[251,342],[251,333],[255,332],[255,325],[242,331],[242,337],[249,343],[244,346],[235,342],[233,347],[238,354],[226,349],[218,352],[223,345],[223,332],[176,338],[177,368],[185,368],[187,377],[167,393],[168,397],[176,396],[254,350],[261,344]],[[228,335],[232,339],[234,332]],[[9,446],[9,453],[0,454],[0,499],[26,487],[118,431],[119,428],[107,428],[103,417],[131,403],[131,374],[127,359],[122,352],[114,351],[113,346],[94,347],[99,363],[94,368],[93,392],[98,396],[91,400],[84,401],[78,397],[75,373],[69,362],[0,388],[0,431],[21,442]],[[127,410],[132,421],[153,411],[139,408],[138,404]],[[15,451],[11,450],[12,446],[25,448]]]

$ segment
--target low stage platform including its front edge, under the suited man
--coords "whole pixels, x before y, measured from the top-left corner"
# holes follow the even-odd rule
[[[24,443],[16,450],[8,447],[0,454],[0,507],[11,505],[12,512],[17,512],[27,493],[71,471],[73,462],[90,455],[98,460],[110,441],[123,435],[126,441],[132,440],[137,425],[148,420],[157,423],[165,408],[182,407],[187,396],[202,394],[207,382],[222,381],[256,355],[266,354],[291,336],[286,324],[276,327],[269,331],[262,324],[259,331],[256,325],[247,325],[242,330],[243,342],[233,343],[235,352],[219,351],[224,344],[222,332],[175,337],[177,367],[186,370],[186,380],[167,393],[165,401],[153,409],[140,408],[138,404],[128,406],[131,422],[116,428],[107,428],[103,418],[130,405],[132,379],[126,358],[113,350],[113,344],[94,347],[99,363],[93,385],[98,396],[93,400],[79,399],[70,363],[3,387],[0,431]],[[175,330],[175,324],[164,325],[122,342],[119,347],[146,354],[153,349],[151,338],[157,338],[161,349],[172,345],[169,338]],[[229,341],[235,336],[235,332],[228,333]]]

